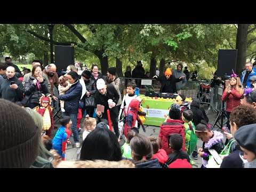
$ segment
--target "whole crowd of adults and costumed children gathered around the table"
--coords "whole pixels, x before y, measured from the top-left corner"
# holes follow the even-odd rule
[[[105,80],[97,65],[84,70],[82,75],[78,75],[76,66],[69,65],[67,73],[59,77],[53,63],[45,68],[41,64],[34,60],[31,72],[23,76],[22,82],[15,65],[0,64],[0,115],[5,125],[0,128],[0,167],[192,168],[192,158],[200,156],[205,168],[210,167],[209,149],[221,154],[225,145],[230,145],[231,150],[221,156],[221,168],[256,167],[256,90],[251,89],[255,86],[256,72],[251,63],[246,63],[241,79],[233,71],[223,90],[227,126],[231,131],[224,132],[227,143],[222,141],[221,132],[211,130],[201,101],[194,98],[187,103],[185,95],[179,93],[187,81],[182,64],[177,70],[167,68],[162,77],[154,76],[162,84],[161,92],[179,93],[170,106],[169,116],[160,125],[157,138],[140,133],[140,126],[146,131],[142,120],[146,113],[140,108],[141,98],[134,93],[137,84],[127,82],[127,94],[122,100],[116,68],[108,69]],[[141,61],[133,73],[141,78],[145,74]],[[54,86],[60,92],[58,97],[54,95]],[[53,102],[57,100],[61,101],[61,126],[51,138]],[[81,128],[85,110],[87,115]],[[124,125],[119,130],[122,117]],[[78,134],[82,130],[81,145]],[[79,148],[77,161],[65,161],[71,135]],[[119,139],[125,140],[123,146],[119,145]],[[197,146],[197,139],[203,141],[202,147]]]

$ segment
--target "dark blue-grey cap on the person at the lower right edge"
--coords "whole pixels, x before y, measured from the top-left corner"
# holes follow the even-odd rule
[[[256,154],[256,124],[239,127],[234,137],[241,147]]]

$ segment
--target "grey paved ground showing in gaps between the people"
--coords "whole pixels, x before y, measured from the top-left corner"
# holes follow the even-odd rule
[[[205,111],[207,111],[207,109],[208,109],[209,107],[208,106],[205,106]],[[213,111],[212,110],[209,110],[208,111],[208,113],[207,113],[207,116],[208,116],[208,118],[209,118],[209,123],[210,124],[213,124],[214,123],[214,121],[215,121],[215,118],[217,117],[217,114],[215,114],[215,113],[213,113]],[[225,119],[224,119],[225,120]],[[82,125],[82,123],[83,123],[83,119],[82,119],[82,121],[81,121],[81,125]],[[60,127],[60,124],[59,124],[59,121],[57,121],[56,123],[55,123],[55,126],[57,126],[57,127]],[[215,128],[216,129],[216,128]],[[214,129],[214,130],[215,130]],[[52,131],[52,138],[54,137],[54,135],[55,135],[55,133],[57,132],[57,130],[58,129],[54,129],[53,131]],[[141,134],[143,134],[143,135],[146,135],[146,136],[153,136],[153,137],[158,137],[158,134],[159,134],[159,130],[160,130],[160,127],[157,127],[157,126],[147,126],[146,127],[146,132],[143,132],[142,131],[142,129],[140,129],[140,133]],[[222,130],[218,130],[218,131],[221,131],[222,132]],[[82,139],[82,133],[83,133],[83,131],[81,131],[80,132],[80,134],[79,134],[79,140],[80,140],[80,142],[82,143],[82,141],[83,141],[83,139]],[[124,137],[123,137],[124,138]],[[224,138],[223,139],[223,142],[225,142],[226,141],[226,138]],[[70,142],[71,143],[74,143],[74,140],[73,140],[73,137],[71,136],[70,137]],[[123,145],[123,143],[124,143],[124,139],[122,139],[121,141],[120,141],[120,145]],[[197,146],[198,146],[198,148],[199,147],[202,147],[202,144],[203,144],[203,142],[201,141],[201,140],[198,140],[197,141]],[[68,148],[67,148],[67,150],[66,150],[66,160],[69,160],[69,159],[76,159],[76,154],[77,154],[77,148],[75,148],[75,145],[73,144],[73,145],[68,145]],[[199,156],[198,156],[199,157]],[[194,167],[201,167],[201,165],[202,165],[202,159],[201,158],[198,158],[197,160],[195,160],[195,159],[193,159],[193,161],[195,161],[195,165],[194,165]]]

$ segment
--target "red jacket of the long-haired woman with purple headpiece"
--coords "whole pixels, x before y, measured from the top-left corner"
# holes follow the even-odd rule
[[[224,90],[221,100],[227,101],[226,111],[231,112],[231,111],[233,111],[233,108],[239,106],[240,102],[241,102],[242,95],[243,95],[243,93],[238,94],[236,92],[236,87],[234,87],[230,93],[228,93]]]

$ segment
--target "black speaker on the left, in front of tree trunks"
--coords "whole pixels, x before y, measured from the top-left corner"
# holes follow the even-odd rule
[[[75,65],[75,51],[73,46],[55,45],[55,65],[57,73],[66,71],[69,65]]]

